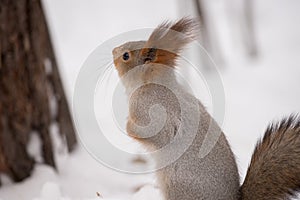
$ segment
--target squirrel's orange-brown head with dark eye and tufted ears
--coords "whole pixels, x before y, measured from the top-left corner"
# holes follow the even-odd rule
[[[197,21],[191,18],[182,18],[175,23],[166,21],[152,32],[147,41],[127,42],[114,48],[113,59],[119,76],[137,66],[147,65],[150,70],[141,70],[135,75],[138,77],[133,77],[147,80],[147,77],[160,75],[161,66],[174,68],[181,51],[196,39],[198,30]]]

